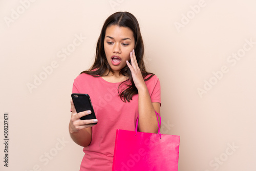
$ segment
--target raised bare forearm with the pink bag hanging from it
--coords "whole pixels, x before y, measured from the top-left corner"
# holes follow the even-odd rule
[[[139,131],[147,133],[157,133],[158,123],[155,108],[152,104],[147,87],[138,89],[139,92]],[[159,109],[160,110],[160,109]],[[156,110],[158,113],[160,111]]]

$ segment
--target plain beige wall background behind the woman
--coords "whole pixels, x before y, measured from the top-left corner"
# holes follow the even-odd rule
[[[255,5],[0,1],[0,137],[7,112],[10,140],[8,168],[0,143],[0,169],[79,169],[82,148],[68,133],[72,83],[92,65],[106,17],[129,11],[161,81],[162,133],[181,136],[179,171],[255,170]]]

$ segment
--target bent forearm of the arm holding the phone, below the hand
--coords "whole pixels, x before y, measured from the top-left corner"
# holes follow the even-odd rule
[[[80,146],[86,147],[91,143],[92,140],[92,127],[87,127],[78,132],[72,132],[69,125],[69,133],[75,143]]]

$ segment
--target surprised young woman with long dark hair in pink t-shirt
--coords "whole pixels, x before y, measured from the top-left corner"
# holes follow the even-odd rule
[[[145,70],[144,46],[137,19],[116,12],[102,27],[93,66],[74,80],[73,93],[91,97],[97,119],[80,120],[91,113],[76,113],[71,100],[69,132],[83,146],[80,170],[112,170],[116,130],[157,133],[160,82]],[[98,122],[96,125],[92,124]]]

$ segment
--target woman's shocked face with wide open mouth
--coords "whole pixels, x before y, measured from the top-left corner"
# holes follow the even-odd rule
[[[120,72],[126,66],[126,60],[130,60],[130,52],[134,46],[135,40],[130,28],[117,25],[106,28],[104,50],[114,72]]]

